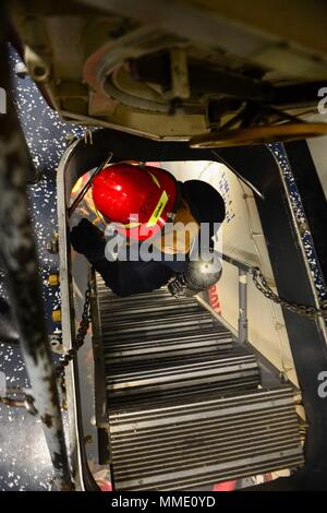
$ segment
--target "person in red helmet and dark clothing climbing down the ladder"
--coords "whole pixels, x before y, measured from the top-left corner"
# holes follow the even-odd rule
[[[174,296],[192,295],[219,279],[220,261],[214,259],[213,266],[210,255],[215,254],[213,238],[225,219],[225,203],[208,183],[178,182],[153,166],[112,164],[94,178],[93,200],[119,249],[110,255],[105,234],[86,218],[72,229],[71,243],[118,296],[148,293],[166,284]],[[145,244],[153,258],[143,258],[142,251],[138,258],[131,256]]]

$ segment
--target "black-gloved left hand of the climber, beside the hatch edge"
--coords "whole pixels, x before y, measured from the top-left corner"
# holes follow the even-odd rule
[[[105,258],[106,239],[101,230],[85,217],[71,230],[71,244],[90,262]]]

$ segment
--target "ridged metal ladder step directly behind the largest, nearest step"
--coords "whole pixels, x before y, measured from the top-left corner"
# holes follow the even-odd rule
[[[166,363],[167,365],[167,363]],[[109,408],[130,407],[133,402],[149,403],[156,394],[157,402],[216,391],[246,390],[259,383],[259,372],[254,355],[179,358],[169,366],[142,361],[125,367],[107,366]]]

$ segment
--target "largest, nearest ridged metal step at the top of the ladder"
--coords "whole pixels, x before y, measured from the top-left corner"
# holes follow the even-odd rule
[[[117,490],[191,490],[303,464],[290,387],[110,413]]]

